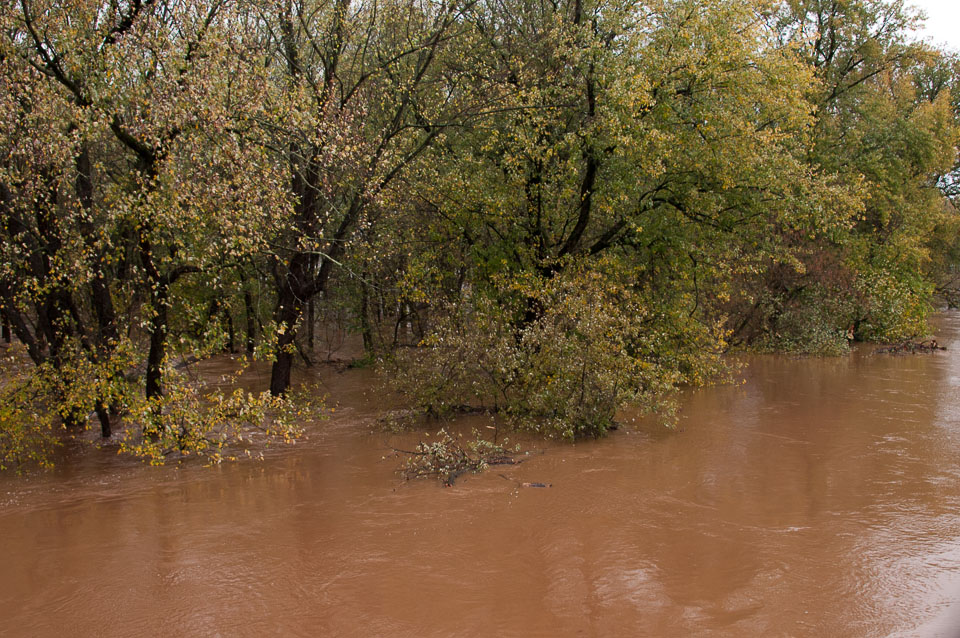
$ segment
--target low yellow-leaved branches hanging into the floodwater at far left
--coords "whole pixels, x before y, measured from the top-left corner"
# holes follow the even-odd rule
[[[126,352],[127,356],[121,356]],[[172,367],[166,392],[146,398],[139,383],[123,373],[135,355],[118,348],[109,361],[95,363],[79,349],[59,366],[44,364],[8,371],[0,396],[0,465],[3,469],[47,467],[65,434],[88,425],[98,404],[121,417],[119,452],[161,465],[171,456],[197,456],[209,463],[251,455],[271,442],[292,442],[302,424],[318,418],[322,402],[303,389],[285,397],[239,387],[244,368],[211,387]],[[221,387],[228,388],[227,390]],[[232,388],[232,389],[229,389]],[[238,452],[237,450],[241,450]]]

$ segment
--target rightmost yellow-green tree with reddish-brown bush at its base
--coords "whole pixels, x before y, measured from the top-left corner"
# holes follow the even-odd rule
[[[908,42],[917,16],[898,2],[789,2],[778,15],[782,39],[817,79],[805,161],[843,193],[835,208],[848,221],[790,239],[796,266],[745,288],[753,308],[740,336],[836,351],[851,330],[865,339],[922,333],[928,240],[947,228],[938,185],[956,158],[943,54]]]

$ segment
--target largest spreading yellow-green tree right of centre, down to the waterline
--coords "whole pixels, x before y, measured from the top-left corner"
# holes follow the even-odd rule
[[[599,434],[624,400],[652,405],[718,372],[735,281],[792,258],[778,236],[842,221],[823,205],[832,186],[797,157],[812,76],[778,46],[763,7],[520,1],[478,15],[494,67],[482,75],[511,108],[438,146],[435,173],[421,178],[442,239],[414,259],[468,263],[455,287],[422,282],[426,298],[450,300],[432,352],[410,361],[412,392],[431,409],[449,405],[450,391],[454,405],[492,403],[559,417],[568,435]],[[609,358],[584,366],[570,354],[607,332]],[[469,343],[480,334],[489,357]],[[618,366],[638,372],[621,386],[600,381]],[[548,386],[581,392],[528,401]],[[603,409],[575,415],[588,394]]]

